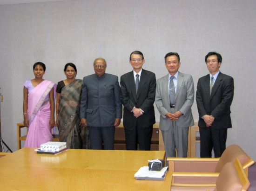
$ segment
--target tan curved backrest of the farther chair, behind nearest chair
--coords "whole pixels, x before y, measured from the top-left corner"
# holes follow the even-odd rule
[[[250,157],[238,145],[230,145],[222,153],[219,162],[216,166],[215,172],[221,172],[223,166],[228,162],[235,162],[236,158],[239,159],[242,166],[250,160]],[[254,162],[253,162],[254,163]],[[252,163],[252,164],[253,164]]]

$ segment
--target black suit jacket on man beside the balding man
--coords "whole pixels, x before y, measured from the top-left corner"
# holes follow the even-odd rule
[[[124,106],[123,126],[134,129],[139,123],[141,127],[149,127],[155,124],[155,74],[148,70],[141,71],[140,83],[136,95],[133,71],[121,76],[120,98]],[[140,108],[144,113],[136,118],[132,109]]]

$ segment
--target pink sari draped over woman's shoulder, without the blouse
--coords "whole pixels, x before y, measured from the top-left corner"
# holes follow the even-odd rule
[[[28,93],[27,118],[29,128],[24,147],[37,147],[53,140],[51,134],[50,118],[51,109],[49,100],[45,102],[46,96],[54,88],[54,100],[56,83],[44,80]]]

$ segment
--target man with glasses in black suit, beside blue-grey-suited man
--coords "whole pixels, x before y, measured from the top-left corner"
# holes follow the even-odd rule
[[[134,51],[129,63],[133,71],[121,76],[121,102],[126,150],[150,150],[153,124],[155,123],[155,74],[143,70],[143,54]]]

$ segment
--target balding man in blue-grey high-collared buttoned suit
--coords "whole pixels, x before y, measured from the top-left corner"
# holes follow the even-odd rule
[[[80,118],[81,126],[89,127],[92,149],[114,149],[115,127],[122,117],[118,77],[106,74],[103,58],[94,60],[95,74],[83,78]]]

